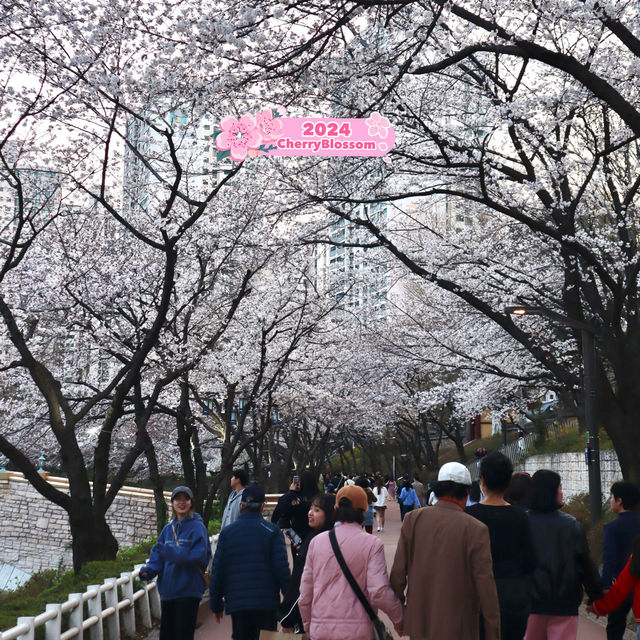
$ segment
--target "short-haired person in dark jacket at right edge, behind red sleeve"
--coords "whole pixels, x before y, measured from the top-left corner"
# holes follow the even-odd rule
[[[609,503],[617,518],[604,526],[603,589],[609,589],[616,581],[629,559],[633,539],[640,534],[640,516],[635,511],[639,502],[640,491],[632,482],[614,482],[611,485]],[[631,604],[629,596],[620,608],[611,611],[607,619],[607,640],[622,640]]]

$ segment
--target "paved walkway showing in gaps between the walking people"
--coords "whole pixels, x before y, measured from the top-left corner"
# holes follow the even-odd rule
[[[396,502],[389,504],[387,509],[387,520],[385,522],[384,531],[381,533],[375,532],[384,545],[384,555],[387,560],[387,567],[390,569],[393,563],[393,556],[396,552],[396,545],[398,537],[400,535],[400,510]],[[584,609],[584,607],[583,607]],[[391,630],[393,637],[398,639],[398,636],[393,629],[391,622],[380,612],[380,618],[385,622],[387,627]],[[590,616],[584,610],[582,611],[579,619],[578,626],[578,640],[606,640],[607,634],[605,632],[603,621],[600,619],[600,623],[595,620],[595,616]],[[149,640],[158,640],[159,634],[157,629],[153,629],[147,636]],[[216,623],[215,618],[209,610],[209,605],[204,604],[200,609],[200,626],[196,630],[195,640],[230,640],[231,639],[231,617],[224,616],[220,624]],[[625,634],[625,640],[635,640],[635,634],[628,631]]]

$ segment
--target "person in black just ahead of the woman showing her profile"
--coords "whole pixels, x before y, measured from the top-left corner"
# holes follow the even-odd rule
[[[317,493],[315,475],[312,471],[303,471],[298,482],[292,482],[289,491],[280,496],[271,516],[271,522],[283,529],[290,539],[294,557],[297,557],[300,545],[311,531],[307,515],[311,500]]]

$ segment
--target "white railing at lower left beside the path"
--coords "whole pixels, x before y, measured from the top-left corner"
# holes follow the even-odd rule
[[[125,635],[133,637],[136,603],[142,625],[150,629],[152,616],[160,618],[160,596],[155,582],[134,592],[133,581],[142,566],[136,565],[133,571],[123,572],[119,578],[106,578],[102,585],[89,585],[84,593],[71,593],[63,604],[48,604],[46,611],[38,616],[18,618],[15,627],[0,632],[0,640],[35,640],[36,629],[42,625],[45,625],[46,640],[83,640],[87,630],[90,640],[120,640],[121,628]],[[65,625],[68,629],[62,631],[65,613],[69,613]]]

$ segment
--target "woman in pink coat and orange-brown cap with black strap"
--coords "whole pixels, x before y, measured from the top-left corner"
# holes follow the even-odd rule
[[[367,494],[346,486],[336,496],[336,537],[345,563],[375,611],[382,609],[402,635],[402,604],[389,586],[384,548],[362,530]],[[310,640],[372,640],[373,626],[342,573],[329,532],[309,545],[300,583],[300,615]]]

